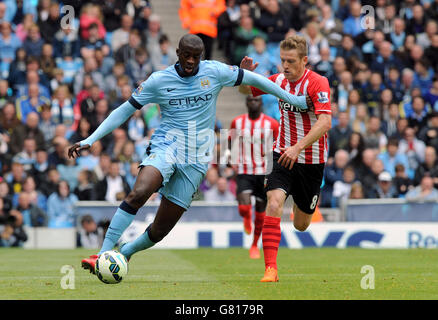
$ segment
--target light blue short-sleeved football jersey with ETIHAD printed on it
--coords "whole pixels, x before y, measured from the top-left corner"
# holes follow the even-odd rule
[[[161,124],[151,139],[154,148],[170,147],[178,163],[206,164],[214,147],[217,97],[223,87],[240,85],[243,70],[205,60],[195,75],[184,77],[178,67],[154,72],[129,102],[137,109],[148,103],[160,105]]]

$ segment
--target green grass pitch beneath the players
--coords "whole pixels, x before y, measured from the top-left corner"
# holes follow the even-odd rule
[[[81,269],[92,253],[1,249],[0,299],[438,299],[433,249],[281,248],[278,283],[259,282],[263,258],[249,259],[246,249],[148,250],[115,285]],[[61,288],[63,265],[74,267],[74,290]],[[374,268],[374,289],[361,288],[364,265]]]

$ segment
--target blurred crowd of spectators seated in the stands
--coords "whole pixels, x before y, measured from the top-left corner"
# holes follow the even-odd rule
[[[438,199],[438,0],[210,3],[217,26],[203,40],[214,40],[230,64],[247,55],[269,76],[282,71],[281,40],[307,39],[309,68],[332,90],[320,206],[348,198]],[[61,27],[66,5],[75,16]],[[77,201],[118,201],[133,187],[160,124],[158,105],[137,111],[77,160],[68,159],[67,147],[152,72],[177,61],[152,5],[0,2],[0,246],[22,244],[23,225],[75,226]],[[181,10],[180,17],[190,30]],[[276,98],[266,95],[263,103],[279,119]],[[233,200],[234,176],[232,167],[212,165],[195,199]]]

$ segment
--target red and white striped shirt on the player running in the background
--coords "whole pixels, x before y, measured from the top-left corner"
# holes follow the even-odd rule
[[[278,127],[277,120],[263,113],[257,119],[251,119],[248,114],[233,119],[230,138],[235,139],[232,154],[237,155],[237,174],[266,174],[267,150],[264,148],[272,146],[273,140],[278,136]],[[237,152],[235,147],[238,147]]]

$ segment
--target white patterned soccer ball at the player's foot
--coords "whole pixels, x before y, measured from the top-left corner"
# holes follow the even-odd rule
[[[100,281],[119,283],[128,274],[128,260],[118,251],[105,251],[97,259],[95,271]]]

